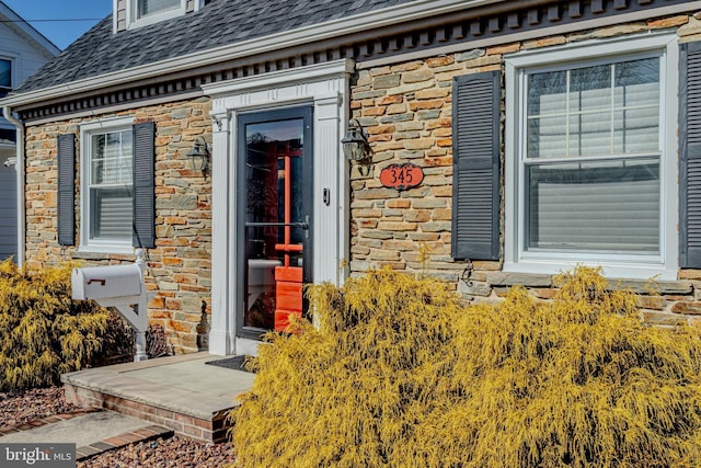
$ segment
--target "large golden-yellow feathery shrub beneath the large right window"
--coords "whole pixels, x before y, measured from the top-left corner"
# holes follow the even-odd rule
[[[598,271],[461,307],[382,270],[310,290],[232,412],[241,467],[701,466],[701,333],[641,322]]]

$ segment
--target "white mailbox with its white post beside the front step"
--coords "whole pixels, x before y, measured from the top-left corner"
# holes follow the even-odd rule
[[[145,361],[148,295],[143,274],[143,250],[137,249],[136,262],[126,265],[73,269],[71,276],[74,300],[92,299],[102,307],[113,307],[136,332],[134,361]]]

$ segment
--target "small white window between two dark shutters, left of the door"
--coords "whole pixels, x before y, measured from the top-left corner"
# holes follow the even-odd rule
[[[131,119],[81,128],[81,250],[131,252]]]

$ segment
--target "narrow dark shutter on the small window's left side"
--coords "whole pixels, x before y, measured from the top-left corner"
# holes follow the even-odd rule
[[[58,243],[76,244],[76,137],[59,135],[58,148]]]

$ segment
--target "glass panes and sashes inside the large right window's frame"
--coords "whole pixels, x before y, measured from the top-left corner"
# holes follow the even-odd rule
[[[659,58],[527,75],[525,248],[660,251]]]

